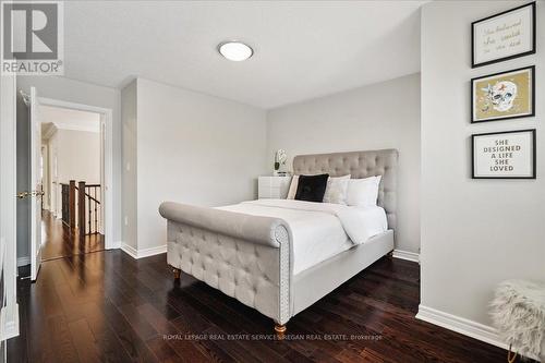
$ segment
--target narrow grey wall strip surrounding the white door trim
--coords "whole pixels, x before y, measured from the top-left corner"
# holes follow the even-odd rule
[[[118,89],[97,86],[75,80],[56,76],[17,76],[17,89],[29,94],[31,86],[38,90],[38,97],[109,108],[113,123],[113,235],[112,241],[121,240],[121,95]],[[28,187],[28,114],[26,107],[17,100],[17,187]],[[26,153],[26,154],[25,154]],[[21,182],[20,182],[21,181]],[[28,201],[28,199],[27,199]],[[24,222],[28,213],[27,202],[17,202],[17,257],[28,256],[28,226]]]

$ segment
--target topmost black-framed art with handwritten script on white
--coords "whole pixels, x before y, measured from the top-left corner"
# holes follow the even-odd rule
[[[535,53],[535,2],[471,23],[471,66]]]

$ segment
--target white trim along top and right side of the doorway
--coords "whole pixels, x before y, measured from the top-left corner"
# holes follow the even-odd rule
[[[113,242],[113,117],[109,108],[89,106],[84,104],[69,102],[59,99],[39,97],[40,105],[66,108],[71,110],[88,111],[100,113],[100,120],[105,122],[106,141],[104,144],[104,232],[105,249],[111,250],[119,246]]]

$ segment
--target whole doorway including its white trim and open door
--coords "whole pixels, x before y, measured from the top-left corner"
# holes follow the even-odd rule
[[[21,95],[17,266],[29,261],[20,276],[35,281],[41,262],[113,247],[112,111],[38,97],[35,87]],[[31,132],[19,128],[25,124]],[[20,257],[25,251],[28,257]]]

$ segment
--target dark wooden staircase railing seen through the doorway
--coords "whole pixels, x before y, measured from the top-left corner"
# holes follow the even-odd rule
[[[61,183],[61,187],[62,221],[82,235],[100,233],[101,185],[84,181],[76,185],[75,180],[71,180],[68,184]]]

